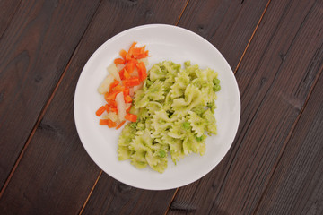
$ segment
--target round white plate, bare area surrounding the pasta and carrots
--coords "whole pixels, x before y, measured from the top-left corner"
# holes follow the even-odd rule
[[[133,41],[146,45],[151,57],[149,65],[171,60],[183,64],[190,60],[201,68],[210,67],[219,73],[221,90],[216,100],[215,118],[218,134],[207,137],[204,156],[190,154],[175,166],[169,159],[163,174],[151,168],[137,169],[129,160],[118,160],[118,136],[121,129],[99,125],[95,111],[104,104],[97,92],[107,75],[106,68],[118,57],[122,48]],[[148,66],[148,69],[150,68]],[[74,118],[81,142],[94,162],[118,181],[148,190],[165,190],[188,185],[205,176],[230,149],[240,121],[240,93],[230,65],[207,40],[192,31],[176,26],[151,24],[125,30],[106,41],[91,56],[75,90]]]

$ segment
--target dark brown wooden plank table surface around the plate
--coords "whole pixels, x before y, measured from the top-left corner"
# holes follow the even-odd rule
[[[0,214],[323,214],[323,1],[0,1]],[[223,161],[166,191],[100,170],[74,90],[107,39],[148,23],[201,35],[240,88]]]

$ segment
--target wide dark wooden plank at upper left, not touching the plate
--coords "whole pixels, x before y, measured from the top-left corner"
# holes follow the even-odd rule
[[[0,40],[0,187],[99,3],[22,1],[4,31]]]

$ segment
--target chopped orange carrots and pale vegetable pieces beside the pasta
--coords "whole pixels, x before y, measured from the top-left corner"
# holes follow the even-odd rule
[[[135,122],[137,116],[129,114],[135,90],[138,90],[147,77],[148,50],[135,47],[134,42],[128,51],[122,49],[108,67],[109,74],[101,82],[98,92],[104,96],[106,104],[99,107],[96,116],[101,116],[99,124],[109,128],[120,128],[126,121]],[[104,114],[106,113],[106,114]],[[104,114],[104,115],[103,115]]]

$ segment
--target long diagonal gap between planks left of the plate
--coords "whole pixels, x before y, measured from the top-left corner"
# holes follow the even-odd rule
[[[100,4],[101,4],[101,3],[102,3],[102,0],[100,1]],[[11,172],[10,172],[9,176],[6,178],[6,180],[5,180],[5,182],[4,182],[4,186],[1,188],[1,191],[0,191],[0,199],[1,199],[1,197],[3,196],[3,194],[4,194],[4,191],[5,191],[6,187],[9,185],[10,180],[11,180],[11,178],[13,177],[13,174],[14,174],[14,172],[15,172],[16,168],[17,168],[17,167],[18,167],[18,165],[20,164],[20,161],[22,160],[22,156],[23,156],[24,152],[27,150],[27,147],[28,147],[28,146],[29,146],[29,144],[31,143],[31,139],[33,138],[34,134],[36,133],[36,130],[37,130],[37,128],[39,127],[39,124],[40,124],[41,120],[42,120],[42,119],[43,119],[43,117],[45,116],[45,113],[46,113],[46,111],[48,110],[49,104],[50,104],[50,103],[51,103],[51,101],[54,99],[54,96],[56,95],[57,89],[58,89],[58,87],[59,87],[60,83],[62,82],[62,80],[63,80],[63,78],[64,78],[64,76],[65,76],[65,73],[67,72],[67,70],[68,70],[68,68],[69,68],[69,66],[70,66],[70,64],[71,64],[71,62],[72,62],[72,60],[74,59],[74,54],[75,54],[75,52],[77,51],[77,49],[79,48],[80,43],[81,43],[81,41],[83,40],[83,37],[84,37],[84,35],[85,35],[85,33],[86,33],[87,29],[88,29],[88,28],[89,28],[89,26],[91,25],[92,20],[93,20],[93,18],[94,18],[94,16],[95,16],[95,14],[97,13],[97,11],[98,11],[98,9],[99,9],[99,7],[100,7],[100,4],[98,4],[98,7],[95,9],[95,12],[92,14],[92,17],[91,17],[91,19],[90,19],[90,22],[89,22],[88,26],[87,26],[87,27],[86,27],[86,29],[84,30],[83,35],[82,35],[81,39],[79,40],[78,44],[77,44],[77,45],[76,45],[76,47],[74,48],[74,51],[73,51],[73,53],[72,53],[72,56],[70,57],[70,59],[68,60],[68,63],[66,64],[65,70],[63,71],[63,73],[61,74],[61,76],[60,76],[60,77],[59,77],[59,79],[58,79],[57,85],[55,86],[54,90],[53,90],[53,91],[52,91],[52,93],[50,94],[50,96],[49,96],[49,98],[48,98],[47,102],[45,103],[45,106],[44,106],[44,107],[42,108],[42,110],[40,111],[39,117],[38,117],[38,119],[37,119],[37,121],[36,121],[35,125],[33,126],[32,130],[31,130],[31,134],[29,135],[29,137],[28,137],[27,141],[26,141],[26,142],[25,142],[25,144],[23,145],[23,148],[22,148],[22,150],[21,150],[21,152],[20,152],[20,154],[19,154],[19,156],[18,156],[18,159],[16,159],[16,161],[15,161],[15,163],[14,163],[14,165],[13,165],[13,168],[12,168],[12,170],[11,170]]]

